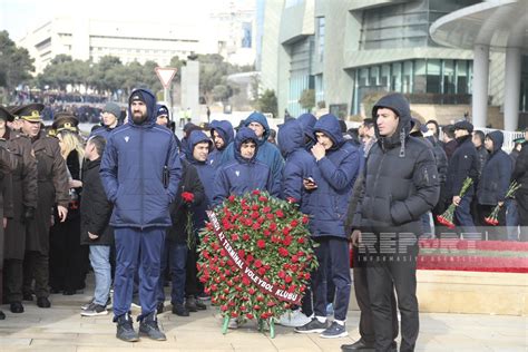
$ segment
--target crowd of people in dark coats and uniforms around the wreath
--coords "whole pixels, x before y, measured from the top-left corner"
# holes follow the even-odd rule
[[[276,140],[257,111],[237,128],[227,120],[206,129],[187,123],[179,140],[168,108],[146,89],[130,95],[125,121],[120,107],[107,102],[87,139],[74,114],[57,114],[45,128],[42,111],[41,104],[0,107],[0,263],[12,313],[33,297],[47,309],[50,293],[76,294],[91,267],[94,299],[80,314],[113,309],[117,338],[163,341],[157,314],[168,282],[172,313],[207,309],[196,271],[206,211],[260,189],[297,203],[317,244],[311,290],[278,323],[322,338],[348,335],[352,244],[361,340],[342,350],[393,351],[401,332],[400,351],[413,351],[413,258],[419,237],[447,229],[437,215],[457,205],[462,238],[528,239],[520,231],[528,222],[528,131],[510,155],[501,131],[483,135],[466,119],[443,126],[440,140],[437,121],[412,118],[400,94],[381,98],[356,130],[331,114],[304,114],[287,118]],[[462,195],[467,178],[472,184]],[[521,185],[515,198],[507,197],[511,180]],[[492,226],[485,219],[497,205]],[[139,332],[133,304],[141,309]],[[238,324],[233,319],[229,327]]]

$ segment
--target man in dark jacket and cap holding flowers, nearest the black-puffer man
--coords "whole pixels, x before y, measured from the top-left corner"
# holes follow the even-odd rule
[[[475,228],[473,218],[470,213],[471,201],[475,196],[475,185],[479,175],[479,158],[477,148],[471,141],[473,125],[468,121],[458,121],[454,124],[454,137],[457,138],[457,149],[454,149],[448,167],[448,179],[446,183],[446,194],[448,204],[457,205],[454,219],[457,225],[461,226],[461,236],[470,237],[480,235]],[[469,186],[463,197],[460,197],[460,190],[466,178],[472,178],[473,184]],[[450,202],[451,201],[451,202]]]

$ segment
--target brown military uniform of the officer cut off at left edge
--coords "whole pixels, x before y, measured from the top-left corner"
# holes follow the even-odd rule
[[[1,110],[1,107],[0,107]],[[12,120],[11,114],[7,115]],[[12,313],[22,313],[22,261],[26,251],[26,223],[37,208],[37,160],[28,136],[6,129],[0,136],[11,158],[13,218],[8,219],[4,238],[4,296]]]

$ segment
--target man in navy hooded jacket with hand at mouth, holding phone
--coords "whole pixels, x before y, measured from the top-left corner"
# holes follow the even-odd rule
[[[361,154],[358,148],[345,143],[341,126],[335,116],[322,116],[313,127],[317,143],[312,147],[316,166],[304,182],[312,192],[309,197],[307,213],[312,216],[310,231],[319,244],[315,247],[319,267],[313,275],[312,289],[315,317],[299,333],[321,333],[321,338],[346,336],[346,311],[350,299],[350,254],[344,222],[352,186],[358,176]],[[331,263],[331,276],[326,277],[327,262]],[[334,321],[326,321],[326,281],[335,285]]]

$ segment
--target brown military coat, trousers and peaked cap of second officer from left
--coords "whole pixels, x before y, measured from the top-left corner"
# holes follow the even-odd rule
[[[42,109],[43,105],[31,104],[14,109],[12,114],[37,124],[41,121]],[[68,176],[57,138],[48,137],[40,130],[37,136],[31,137],[31,144],[37,159],[38,202],[35,218],[27,224],[22,294],[25,299],[31,299],[31,283],[35,278],[37,305],[49,307],[49,228],[53,206],[58,204],[68,207]]]

